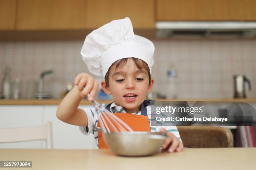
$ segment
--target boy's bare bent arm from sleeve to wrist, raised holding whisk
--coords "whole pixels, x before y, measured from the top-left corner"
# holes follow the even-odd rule
[[[78,126],[88,126],[87,114],[77,108],[83,99],[81,91],[75,85],[59,104],[56,116],[59,120]]]

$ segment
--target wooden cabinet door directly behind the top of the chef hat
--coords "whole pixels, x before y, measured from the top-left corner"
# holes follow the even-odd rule
[[[154,0],[87,0],[85,22],[89,29],[125,17],[135,29],[155,28]]]

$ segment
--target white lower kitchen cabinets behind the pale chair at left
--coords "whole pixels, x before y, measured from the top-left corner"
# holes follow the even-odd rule
[[[69,125],[56,117],[58,105],[0,105],[0,128],[41,126],[52,122],[54,149],[95,149],[92,134],[84,135],[78,126]],[[88,107],[80,105],[79,108]],[[45,141],[0,143],[0,148],[46,148]]]

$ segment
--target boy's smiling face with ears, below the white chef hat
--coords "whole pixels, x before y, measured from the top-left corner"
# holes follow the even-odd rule
[[[112,67],[108,80],[109,87],[104,87],[103,83],[103,90],[108,95],[112,94],[116,104],[123,106],[127,113],[140,110],[141,103],[154,84],[152,79],[148,85],[149,77],[146,69],[139,70],[131,59],[116,70]]]

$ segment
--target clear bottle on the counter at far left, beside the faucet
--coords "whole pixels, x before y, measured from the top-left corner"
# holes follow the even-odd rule
[[[9,99],[11,97],[11,78],[10,67],[5,67],[5,73],[2,81],[2,96],[1,98]]]

